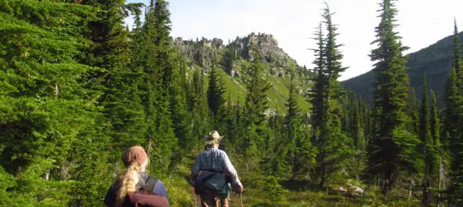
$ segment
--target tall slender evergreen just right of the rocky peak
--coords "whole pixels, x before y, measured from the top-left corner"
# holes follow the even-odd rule
[[[338,172],[344,168],[344,163],[353,154],[349,146],[346,133],[341,130],[342,106],[340,97],[343,96],[343,89],[340,86],[340,72],[346,70],[341,66],[343,55],[339,51],[336,43],[338,35],[337,28],[332,23],[332,13],[328,4],[322,14],[326,26],[327,34],[323,38],[321,27],[316,33],[319,41],[319,48],[314,50],[316,53],[316,70],[318,77],[314,79],[315,91],[312,92],[312,106],[314,106],[314,143],[318,148],[316,161],[319,166],[320,182],[323,186],[327,177],[332,172]]]

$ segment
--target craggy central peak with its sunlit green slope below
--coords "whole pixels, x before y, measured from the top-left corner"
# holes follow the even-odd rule
[[[207,39],[202,37],[196,40],[183,40],[178,37],[173,44],[178,48],[178,52],[185,57],[189,63],[189,68],[201,70],[207,78],[213,62],[220,68],[223,81],[229,90],[227,94],[232,99],[244,101],[246,95],[246,82],[249,79],[247,68],[255,59],[255,54],[261,54],[263,63],[263,75],[270,81],[272,88],[268,90],[267,97],[270,108],[285,113],[285,101],[289,94],[290,72],[296,72],[298,82],[297,98],[301,108],[307,112],[310,103],[305,100],[305,94],[312,86],[310,78],[313,74],[288,56],[283,49],[278,47],[278,41],[272,34],[252,32],[245,37],[236,37],[233,41],[228,40],[225,44],[222,39]]]

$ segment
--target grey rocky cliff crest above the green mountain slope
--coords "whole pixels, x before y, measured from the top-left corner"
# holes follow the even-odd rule
[[[266,73],[283,77],[291,68],[303,72],[303,68],[278,47],[278,41],[272,34],[253,32],[246,37],[236,37],[227,46],[224,45],[222,39],[217,38],[209,40],[202,37],[200,40],[193,41],[178,37],[174,40],[174,45],[178,48],[180,55],[193,60],[206,70],[211,66],[215,55],[217,61],[231,76],[239,76],[242,62],[254,61],[257,54],[260,54],[261,61],[269,66],[264,71]]]

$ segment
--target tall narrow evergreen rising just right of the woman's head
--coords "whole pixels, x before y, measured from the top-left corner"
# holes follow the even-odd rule
[[[158,175],[171,166],[172,150],[177,144],[171,119],[171,83],[178,71],[178,61],[169,37],[169,15],[166,1],[151,1],[143,26],[142,101],[148,125],[145,137],[152,160],[149,168]]]

